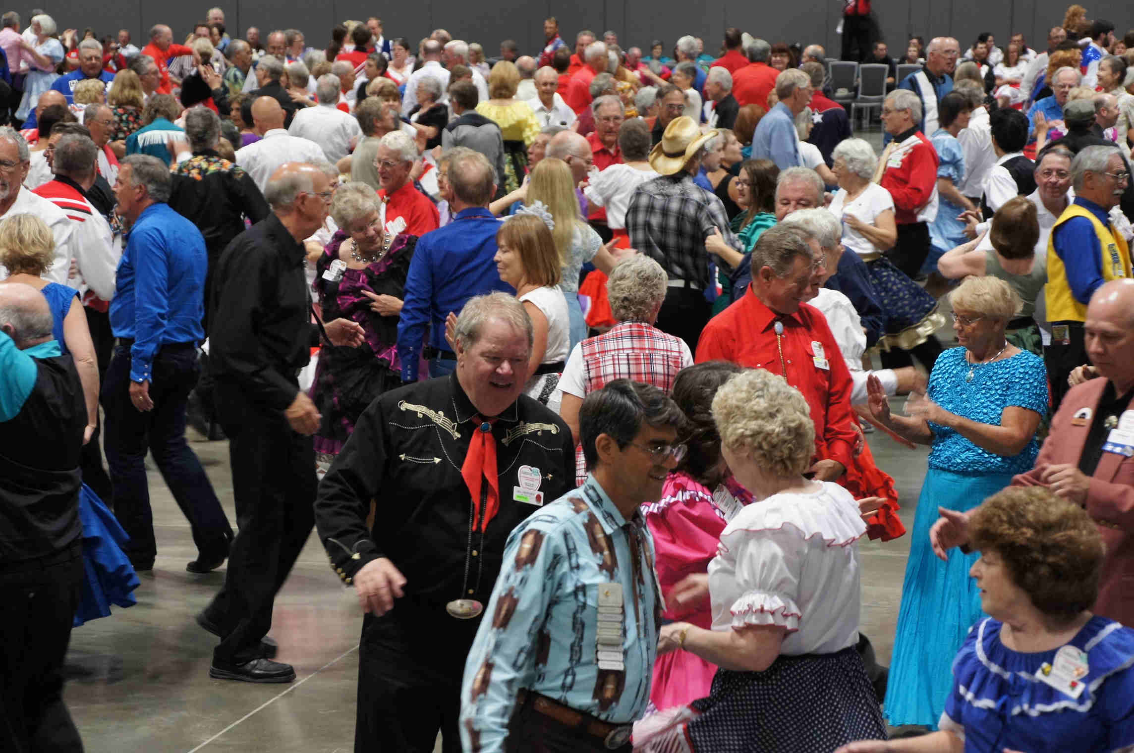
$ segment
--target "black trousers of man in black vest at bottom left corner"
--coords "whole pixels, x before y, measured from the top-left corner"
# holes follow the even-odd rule
[[[0,564],[0,750],[82,753],[64,704],[64,658],[83,581],[83,548]]]

